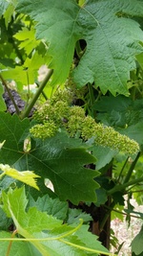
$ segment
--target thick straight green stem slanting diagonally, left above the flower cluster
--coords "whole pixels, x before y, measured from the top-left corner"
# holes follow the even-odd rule
[[[24,119],[25,117],[29,116],[29,114],[31,112],[31,108],[36,103],[37,99],[39,98],[40,94],[42,93],[42,91],[43,91],[45,85],[47,84],[47,82],[51,79],[52,73],[53,73],[53,70],[50,69],[48,74],[46,75],[44,81],[42,81],[42,83],[39,85],[36,93],[34,94],[33,98],[31,99],[31,102],[26,107],[26,109],[23,111],[23,113],[21,113],[21,115],[20,115],[21,119]]]

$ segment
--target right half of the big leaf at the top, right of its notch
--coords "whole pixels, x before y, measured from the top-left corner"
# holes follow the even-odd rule
[[[134,56],[143,50],[139,44],[143,40],[139,24],[126,18],[132,15],[143,15],[143,3],[88,1],[80,12],[87,50],[74,72],[78,86],[94,81],[104,94],[110,90],[113,95],[128,95],[127,81],[130,70],[135,69]]]

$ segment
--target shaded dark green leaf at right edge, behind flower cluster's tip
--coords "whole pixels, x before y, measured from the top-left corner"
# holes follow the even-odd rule
[[[113,106],[113,107],[112,107]],[[129,136],[141,147],[143,145],[143,100],[133,101],[119,95],[104,96],[94,104],[98,111],[97,119],[117,129],[121,134]]]

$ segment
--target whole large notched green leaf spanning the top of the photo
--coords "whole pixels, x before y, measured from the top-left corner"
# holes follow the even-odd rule
[[[53,83],[66,80],[76,41],[84,39],[86,51],[73,74],[77,85],[95,81],[103,93],[128,94],[134,57],[143,51],[142,31],[132,19],[143,16],[141,1],[92,0],[79,7],[74,0],[19,0],[16,10],[29,14],[37,38],[49,43]]]

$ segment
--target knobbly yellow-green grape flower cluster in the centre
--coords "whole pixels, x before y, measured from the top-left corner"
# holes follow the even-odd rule
[[[67,89],[55,92],[51,100],[34,112],[33,118],[38,124],[31,128],[31,134],[45,139],[53,136],[59,128],[66,128],[71,137],[80,137],[84,141],[93,137],[97,145],[128,154],[139,151],[137,142],[112,127],[97,124],[91,116],[85,115],[81,106],[72,105],[72,96]]]

